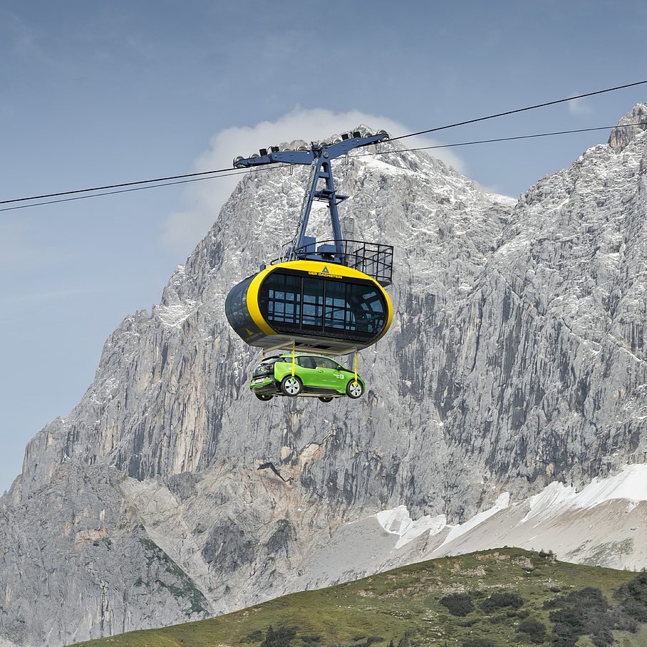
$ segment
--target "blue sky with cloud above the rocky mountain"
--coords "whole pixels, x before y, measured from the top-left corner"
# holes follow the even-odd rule
[[[358,120],[402,135],[643,81],[646,33],[643,1],[4,0],[0,200],[225,167]],[[436,137],[610,126],[641,101],[647,86]],[[608,136],[439,155],[517,196]],[[0,493],[232,190],[199,184],[0,212]]]

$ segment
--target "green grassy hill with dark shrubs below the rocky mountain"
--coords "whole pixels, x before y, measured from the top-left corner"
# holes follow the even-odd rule
[[[647,573],[497,549],[76,647],[647,647]]]

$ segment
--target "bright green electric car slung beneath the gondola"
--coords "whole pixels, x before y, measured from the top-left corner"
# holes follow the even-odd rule
[[[270,357],[254,368],[249,383],[259,400],[271,400],[274,395],[308,395],[330,402],[333,398],[359,398],[364,393],[364,382],[354,371],[329,357],[296,355],[294,376],[292,355]]]

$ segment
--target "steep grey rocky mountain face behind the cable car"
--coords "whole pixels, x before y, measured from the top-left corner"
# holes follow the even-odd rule
[[[393,326],[361,353],[357,401],[249,393],[260,353],[224,299],[291,237],[307,171],[245,176],[160,304],[108,338],[81,403],[29,443],[0,500],[0,647],[361,576],[393,534],[370,522],[362,559],[344,554],[362,519],[404,506],[469,523],[503,493],[521,504],[645,462],[643,129],[621,122],[518,202],[398,143],[339,160],[346,227],[395,246]]]

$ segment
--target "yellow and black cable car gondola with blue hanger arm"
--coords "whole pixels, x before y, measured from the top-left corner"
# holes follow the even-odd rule
[[[393,319],[393,306],[383,286],[391,282],[393,247],[341,237],[337,195],[330,160],[355,147],[388,138],[353,133],[311,150],[262,149],[260,156],[238,157],[236,167],[272,162],[309,164],[311,187],[296,237],[284,257],[248,276],[227,295],[225,314],[234,331],[250,346],[292,348],[328,355],[346,355],[382,338]],[[319,180],[325,187],[319,189]],[[328,202],[334,239],[321,242],[306,236],[314,200]]]

